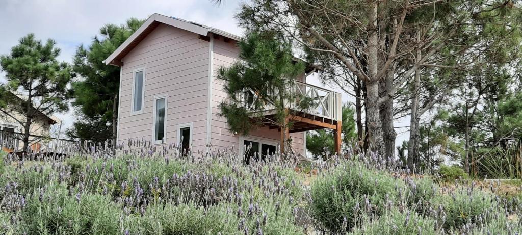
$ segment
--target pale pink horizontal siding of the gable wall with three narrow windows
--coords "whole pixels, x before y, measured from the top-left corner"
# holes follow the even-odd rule
[[[168,95],[167,143],[177,125],[193,123],[193,150],[204,149],[208,107],[209,42],[161,24],[123,58],[118,142],[152,139],[153,98]],[[131,115],[133,70],[146,68],[144,112]]]

